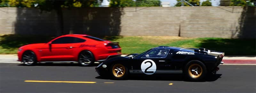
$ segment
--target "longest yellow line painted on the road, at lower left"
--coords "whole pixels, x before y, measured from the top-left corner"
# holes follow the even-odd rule
[[[77,81],[35,81],[35,80],[25,80],[24,82],[53,82],[53,83],[96,83],[96,82],[77,82]]]

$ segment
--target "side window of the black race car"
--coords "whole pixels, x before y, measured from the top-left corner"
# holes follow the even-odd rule
[[[156,48],[149,51],[141,58],[165,58],[168,55],[169,51],[170,49]]]

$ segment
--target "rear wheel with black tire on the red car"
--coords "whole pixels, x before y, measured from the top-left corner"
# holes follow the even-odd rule
[[[92,52],[86,50],[80,52],[78,55],[78,63],[83,67],[92,66],[94,63],[94,56]]]

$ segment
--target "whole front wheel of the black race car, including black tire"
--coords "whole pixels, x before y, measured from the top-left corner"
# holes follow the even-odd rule
[[[128,68],[123,64],[113,64],[109,69],[110,75],[114,80],[123,80],[128,75]]]

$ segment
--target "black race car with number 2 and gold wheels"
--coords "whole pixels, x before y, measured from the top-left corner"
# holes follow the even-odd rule
[[[183,73],[197,81],[207,73],[216,74],[217,66],[224,63],[223,56],[222,52],[204,48],[159,46],[141,54],[109,59],[95,69],[99,75],[111,75],[114,79],[124,79],[128,74]]]

